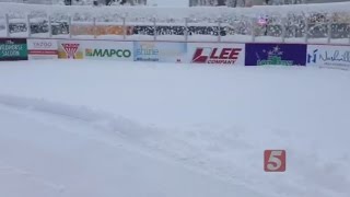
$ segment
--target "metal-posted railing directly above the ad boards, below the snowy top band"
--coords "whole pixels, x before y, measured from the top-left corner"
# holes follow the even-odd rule
[[[228,22],[224,19],[214,21],[194,22],[184,19],[184,23],[159,22],[156,18],[143,22],[129,22],[120,18],[119,22],[73,21],[67,16],[66,21],[47,19],[10,19],[4,15],[5,37],[62,37],[68,38],[106,38],[120,40],[202,40],[202,42],[280,42],[280,43],[334,43],[350,44],[350,22],[335,21],[332,18],[320,21],[300,19],[271,20],[260,24],[257,19],[246,19]],[[105,31],[105,32],[103,32]],[[109,31],[109,32],[108,32]]]

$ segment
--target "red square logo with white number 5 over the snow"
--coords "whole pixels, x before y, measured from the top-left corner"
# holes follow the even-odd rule
[[[265,172],[285,171],[285,150],[266,150],[264,152]]]

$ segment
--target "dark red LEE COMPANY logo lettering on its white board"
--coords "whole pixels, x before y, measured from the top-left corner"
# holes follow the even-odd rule
[[[241,51],[242,48],[197,48],[191,62],[234,65]]]

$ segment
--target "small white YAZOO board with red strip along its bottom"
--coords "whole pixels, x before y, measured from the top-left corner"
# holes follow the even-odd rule
[[[27,39],[28,59],[57,59],[56,39]]]

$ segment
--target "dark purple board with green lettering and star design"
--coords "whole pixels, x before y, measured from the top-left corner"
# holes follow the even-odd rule
[[[304,44],[246,44],[246,66],[306,66]]]

